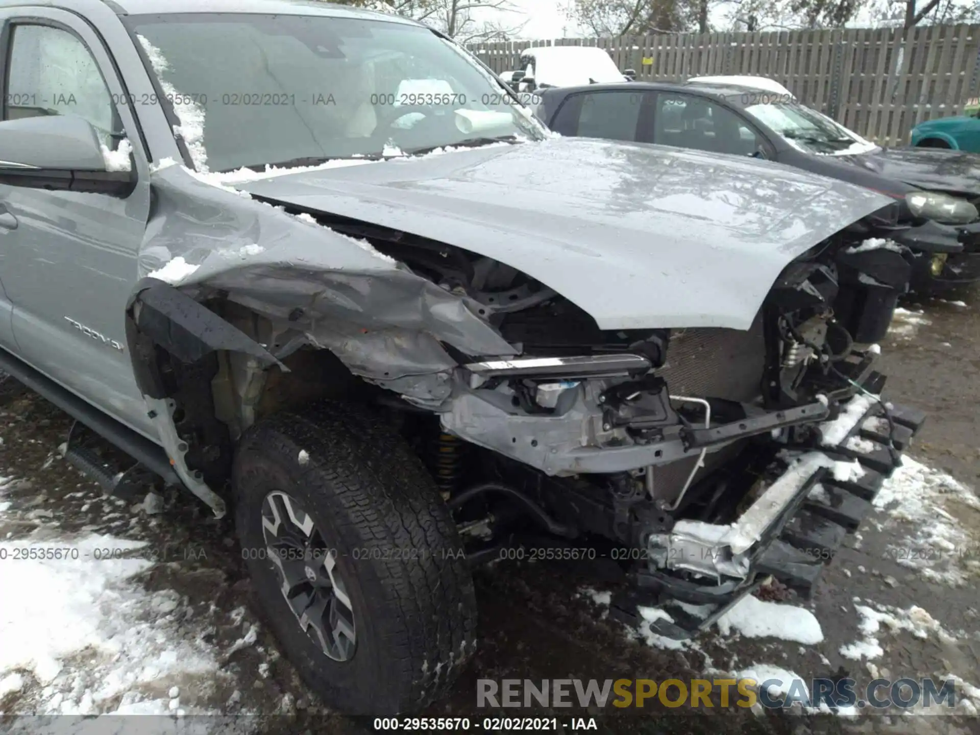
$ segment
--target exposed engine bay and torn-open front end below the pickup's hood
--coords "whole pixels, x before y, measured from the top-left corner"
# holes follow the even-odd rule
[[[877,397],[875,343],[909,266],[898,248],[861,247],[866,223],[784,270],[743,331],[602,330],[489,258],[323,222],[482,305],[519,351],[454,354],[438,406],[403,395],[438,417],[410,413],[407,434],[461,527],[488,537],[467,556],[497,558],[528,531],[575,548],[601,539],[638,583],[623,615],[665,596],[715,604],[713,619],[768,574],[808,591],[921,422]],[[661,632],[705,621],[689,623]]]

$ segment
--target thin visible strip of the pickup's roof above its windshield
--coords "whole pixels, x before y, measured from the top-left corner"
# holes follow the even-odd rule
[[[315,0],[105,0],[120,15],[172,15],[176,13],[261,13],[264,15],[326,16],[420,25],[408,18],[350,5]],[[3,3],[0,3],[2,5]],[[71,5],[71,0],[66,0]]]

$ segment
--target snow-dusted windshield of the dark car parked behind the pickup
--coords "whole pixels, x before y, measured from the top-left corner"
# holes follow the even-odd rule
[[[877,146],[826,115],[796,103],[767,102],[745,108],[760,123],[807,153],[851,155]]]

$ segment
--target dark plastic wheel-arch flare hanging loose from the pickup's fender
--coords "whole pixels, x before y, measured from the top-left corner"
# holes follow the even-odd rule
[[[263,368],[278,365],[287,369],[243,331],[156,278],[142,279],[126,305],[126,341],[140,391],[156,399],[164,398],[166,392],[153,361],[154,345],[183,363],[226,350],[249,355]]]

